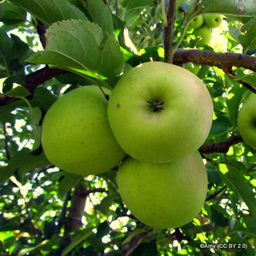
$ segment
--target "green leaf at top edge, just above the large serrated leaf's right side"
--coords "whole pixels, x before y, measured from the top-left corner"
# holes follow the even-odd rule
[[[88,0],[87,10],[95,23],[112,35],[114,32],[113,19],[110,9],[102,0]]]

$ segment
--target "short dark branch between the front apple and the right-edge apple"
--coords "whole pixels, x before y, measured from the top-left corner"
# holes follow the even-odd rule
[[[210,153],[227,153],[230,146],[243,142],[242,137],[239,135],[233,135],[227,138],[224,142],[213,142],[207,145],[202,145],[199,148],[200,154],[210,154]]]

